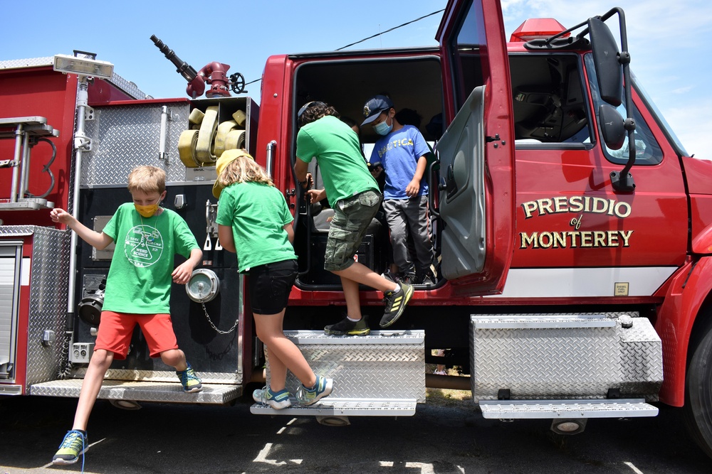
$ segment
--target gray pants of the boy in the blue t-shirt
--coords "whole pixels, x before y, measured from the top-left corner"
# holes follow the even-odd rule
[[[394,263],[399,271],[402,274],[425,274],[433,263],[433,244],[428,228],[428,197],[387,199],[383,201],[383,210],[391,235]],[[413,237],[415,256],[408,252],[409,233]]]

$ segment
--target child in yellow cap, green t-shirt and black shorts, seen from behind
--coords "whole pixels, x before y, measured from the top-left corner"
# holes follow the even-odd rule
[[[286,389],[289,369],[302,382],[295,394],[299,404],[315,404],[331,394],[334,381],[315,375],[299,348],[282,332],[289,293],[297,277],[294,218],[282,193],[246,151],[224,151],[215,168],[218,236],[224,249],[237,254],[238,270],[250,276],[257,337],[267,347],[270,383],[255,390],[252,397],[276,410],[291,406]]]

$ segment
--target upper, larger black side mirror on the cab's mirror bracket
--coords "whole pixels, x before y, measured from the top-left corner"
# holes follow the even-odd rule
[[[618,107],[623,92],[623,65],[620,52],[608,26],[598,18],[588,19],[593,59],[601,98]]]

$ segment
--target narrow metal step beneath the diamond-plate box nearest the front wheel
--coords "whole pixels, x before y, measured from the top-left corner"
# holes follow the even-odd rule
[[[483,418],[632,418],[657,416],[645,399],[597,400],[480,400]]]

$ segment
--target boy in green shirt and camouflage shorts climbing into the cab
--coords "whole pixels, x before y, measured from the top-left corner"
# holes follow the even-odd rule
[[[324,332],[331,335],[370,333],[361,314],[359,284],[383,292],[386,308],[380,327],[387,328],[402,316],[413,296],[413,287],[385,279],[353,259],[382,198],[361,155],[358,136],[339,119],[334,107],[323,102],[305,104],[298,112],[298,122],[295,176],[303,188],[308,187],[308,163],[316,158],[325,189],[310,190],[308,196],[313,203],[328,198],[335,212],[329,228],[324,269],[340,276],[346,299],[346,317],[326,326]]]

